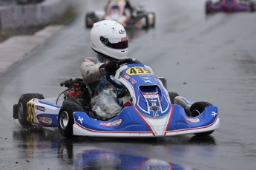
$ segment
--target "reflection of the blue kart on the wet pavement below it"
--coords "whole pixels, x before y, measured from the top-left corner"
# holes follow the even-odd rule
[[[72,169],[191,169],[179,163],[168,162],[154,157],[145,157],[128,150],[143,149],[145,152],[158,148],[164,149],[168,143],[171,145],[183,145],[188,143],[214,146],[214,137],[168,137],[163,139],[146,138],[117,138],[113,147],[113,138],[105,137],[75,137],[72,139],[63,138],[59,133],[48,130],[27,131],[21,129],[13,131],[13,142],[19,151],[19,157],[23,157],[27,167],[36,163],[37,157],[59,157],[58,167],[72,167]],[[138,146],[136,145],[138,143]],[[147,145],[143,145],[147,143]],[[109,144],[112,147],[109,147]],[[134,145],[135,144],[135,145]],[[104,147],[105,146],[105,147]],[[122,148],[128,149],[125,152]],[[116,150],[117,149],[117,150]],[[142,152],[142,151],[141,151]],[[174,151],[172,151],[174,152]],[[19,164],[19,163],[17,163]],[[54,163],[42,164],[42,167],[52,169]],[[33,165],[36,166],[36,165]]]

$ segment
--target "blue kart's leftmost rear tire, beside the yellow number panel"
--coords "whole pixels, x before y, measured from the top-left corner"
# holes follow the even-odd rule
[[[23,94],[19,98],[18,120],[24,128],[30,128],[32,126],[31,123],[27,121],[27,102],[30,101],[32,98],[44,99],[44,96],[38,93],[27,93]]]

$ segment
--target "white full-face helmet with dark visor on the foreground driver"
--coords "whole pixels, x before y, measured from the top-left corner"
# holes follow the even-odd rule
[[[93,24],[91,48],[108,57],[121,60],[128,52],[128,37],[125,28],[116,21],[103,20]]]

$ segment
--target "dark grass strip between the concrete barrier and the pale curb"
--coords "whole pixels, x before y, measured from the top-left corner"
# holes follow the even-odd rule
[[[65,14],[56,18],[51,24],[71,24],[77,17],[76,9],[70,7]],[[7,38],[10,38],[13,35],[33,35],[39,30],[47,27],[50,24],[39,25],[39,26],[30,26],[30,27],[18,27],[7,30],[0,30],[0,42],[5,41]]]

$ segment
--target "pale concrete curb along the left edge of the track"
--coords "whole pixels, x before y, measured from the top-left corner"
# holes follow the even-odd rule
[[[0,76],[14,64],[27,58],[30,52],[41,47],[45,42],[59,32],[63,26],[48,26],[34,35],[17,35],[8,38],[0,44]]]

